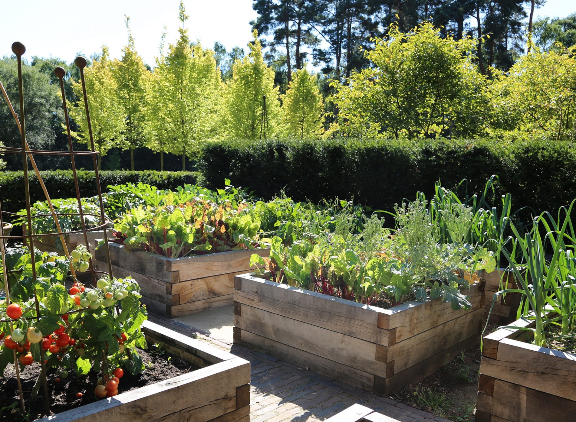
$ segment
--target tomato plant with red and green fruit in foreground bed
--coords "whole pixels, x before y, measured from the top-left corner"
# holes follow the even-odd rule
[[[95,391],[97,397],[105,397],[118,394],[120,367],[131,374],[144,369],[137,347],[146,347],[141,326],[147,313],[134,279],[104,275],[96,286],[75,280],[67,289],[71,267],[88,269],[91,255],[83,245],[70,258],[35,251],[32,259],[26,247],[6,248],[4,258],[10,301],[0,304],[0,333],[8,334],[0,347],[0,376],[9,364],[23,369],[44,363],[56,375],[55,382],[71,371],[79,376],[94,371],[107,380],[103,393]],[[40,377],[31,398],[36,397]]]

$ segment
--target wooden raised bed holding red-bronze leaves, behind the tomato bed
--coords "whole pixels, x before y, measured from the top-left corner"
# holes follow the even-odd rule
[[[127,253],[123,245],[109,245],[115,277],[131,275],[142,289],[142,303],[168,317],[231,305],[234,275],[250,270],[252,254],[270,254],[270,249],[257,249],[174,259],[143,251]],[[104,248],[96,251],[96,259],[97,269],[108,271]]]

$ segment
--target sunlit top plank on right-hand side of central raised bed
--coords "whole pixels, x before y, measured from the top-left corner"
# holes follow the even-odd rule
[[[408,302],[385,309],[384,312],[380,313],[378,327],[396,328],[396,342],[401,342],[408,337],[444,324],[458,317],[462,312],[473,312],[483,308],[483,294],[479,291],[478,284],[471,286],[470,290],[464,290],[463,293],[469,296],[469,301],[472,304],[472,308],[468,311],[454,311],[450,308],[449,302],[442,302],[439,299],[426,302]]]

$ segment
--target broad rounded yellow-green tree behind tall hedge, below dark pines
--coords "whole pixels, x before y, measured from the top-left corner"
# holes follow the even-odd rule
[[[366,52],[371,66],[333,83],[331,133],[371,137],[477,136],[485,130],[486,79],[473,63],[476,41],[442,38],[429,22],[408,33],[392,25]]]

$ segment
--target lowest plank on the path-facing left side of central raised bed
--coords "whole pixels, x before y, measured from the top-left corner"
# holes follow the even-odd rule
[[[324,359],[321,356],[316,356],[303,350],[298,350],[294,347],[286,346],[286,344],[283,343],[274,342],[274,340],[253,334],[249,331],[240,330],[239,328],[237,328],[236,331],[241,331],[241,341],[239,343],[242,345],[250,346],[255,350],[276,356],[276,358],[286,360],[286,362],[300,365],[306,369],[316,371],[317,373],[338,379],[350,385],[365,390],[372,390],[374,375],[332,360]],[[234,340],[234,343],[236,343],[236,340]]]

